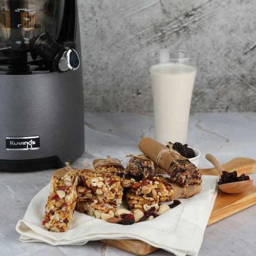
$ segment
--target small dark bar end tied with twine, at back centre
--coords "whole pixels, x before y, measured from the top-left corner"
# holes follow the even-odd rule
[[[125,178],[133,178],[136,181],[152,179],[155,175],[154,162],[149,158],[139,155],[130,155],[131,159],[125,169]]]

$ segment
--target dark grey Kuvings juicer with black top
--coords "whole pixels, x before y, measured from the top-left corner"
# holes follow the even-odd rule
[[[0,170],[83,153],[80,56],[75,0],[0,1]]]

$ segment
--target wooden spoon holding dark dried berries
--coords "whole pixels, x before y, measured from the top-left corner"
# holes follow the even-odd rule
[[[206,154],[205,158],[216,167],[216,169],[219,172],[219,177],[220,177],[222,175],[222,172],[225,169],[220,165],[218,160],[210,154]],[[224,193],[238,194],[238,193],[247,192],[248,190],[250,190],[252,188],[252,185],[253,185],[253,180],[245,180],[245,181],[221,184],[221,185],[219,185],[219,188]]]

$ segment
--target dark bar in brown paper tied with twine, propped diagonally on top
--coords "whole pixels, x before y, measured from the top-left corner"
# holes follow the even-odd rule
[[[201,186],[202,177],[199,169],[177,151],[151,139],[144,138],[139,142],[140,150],[157,166],[165,170],[172,182],[180,186]]]

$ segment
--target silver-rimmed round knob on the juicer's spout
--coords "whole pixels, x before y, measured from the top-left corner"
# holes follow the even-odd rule
[[[73,48],[66,48],[66,51],[59,59],[58,68],[61,72],[77,70],[80,67],[80,59],[77,51]]]

